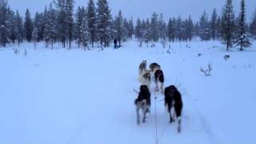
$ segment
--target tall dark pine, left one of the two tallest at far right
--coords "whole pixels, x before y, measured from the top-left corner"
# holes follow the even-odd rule
[[[234,10],[232,6],[232,0],[226,0],[226,6],[222,11],[222,26],[221,36],[223,43],[226,44],[226,50],[230,50],[230,47],[234,42]]]

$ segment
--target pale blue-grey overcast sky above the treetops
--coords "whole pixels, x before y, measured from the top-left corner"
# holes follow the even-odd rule
[[[89,0],[74,0],[75,6],[87,6]],[[36,11],[42,12],[44,7],[52,0],[9,0],[10,7],[13,10],[19,10],[24,14],[26,8],[29,8],[32,15]],[[94,1],[96,4],[96,0]],[[164,17],[187,18],[189,15],[194,20],[202,15],[206,10],[210,16],[212,10],[216,8],[220,14],[226,0],[108,0],[112,14],[117,14],[118,10],[122,10],[122,14],[126,18],[148,18],[155,11],[164,14]],[[241,0],[233,0],[234,10],[238,14]],[[247,15],[250,20],[256,8],[256,0],[246,0]]]

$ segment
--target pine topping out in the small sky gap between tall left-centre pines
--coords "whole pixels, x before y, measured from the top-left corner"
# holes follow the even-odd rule
[[[75,24],[75,32],[76,32],[76,39],[77,39],[77,43],[78,43],[78,47],[80,47],[81,43],[82,43],[82,25],[83,25],[83,21],[86,18],[86,10],[85,8],[82,6],[82,8],[80,6],[78,6],[78,11],[75,14],[76,15],[76,24]]]

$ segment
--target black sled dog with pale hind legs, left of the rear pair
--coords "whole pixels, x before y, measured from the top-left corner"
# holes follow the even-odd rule
[[[139,111],[142,110],[143,119],[142,122],[146,122],[146,114],[150,113],[150,90],[147,86],[142,85],[140,87],[140,92],[138,93],[138,98],[135,99],[137,123],[140,124],[140,114]]]

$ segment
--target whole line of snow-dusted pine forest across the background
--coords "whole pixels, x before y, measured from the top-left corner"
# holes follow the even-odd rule
[[[192,18],[170,18],[165,22],[163,14],[153,13],[151,18],[123,18],[122,11],[113,17],[107,0],[90,0],[87,6],[79,6],[74,11],[74,0],[56,0],[46,6],[42,13],[30,16],[26,10],[22,18],[18,10],[14,12],[7,0],[0,0],[0,45],[21,42],[45,42],[53,48],[55,42],[63,47],[71,47],[72,42],[85,49],[89,46],[110,46],[114,38],[124,42],[135,38],[138,42],[191,41],[199,37],[202,41],[220,40],[226,50],[240,46],[240,50],[250,46],[256,38],[256,10],[250,23],[246,23],[245,0],[235,17],[232,0],[226,0],[222,14],[214,9],[210,18],[204,11],[198,22]],[[135,23],[135,26],[134,26]]]

